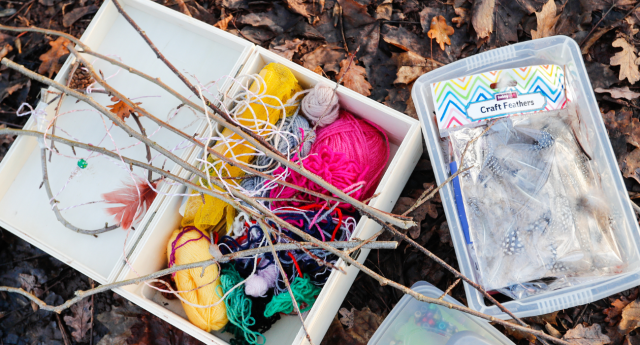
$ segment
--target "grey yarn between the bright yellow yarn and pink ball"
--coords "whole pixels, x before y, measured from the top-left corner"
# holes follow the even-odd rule
[[[290,150],[293,150],[300,145],[300,142],[304,139],[304,144],[300,147],[300,154],[305,157],[309,154],[311,150],[311,145],[315,141],[315,133],[313,129],[309,125],[309,121],[302,116],[289,116],[287,117],[284,123],[283,130],[287,133],[291,133],[291,135],[287,135],[287,140],[280,139],[278,143],[278,151],[284,155],[288,155]],[[280,122],[276,124],[279,126]],[[304,138],[303,138],[304,137]],[[271,142],[270,144],[273,144]],[[293,155],[291,155],[293,156]],[[266,155],[258,156],[254,162],[254,165],[260,167],[270,167],[273,159],[267,157]],[[265,171],[268,168],[257,168],[256,170]],[[245,190],[252,192],[257,191],[264,185],[265,179],[261,176],[254,176],[251,178],[244,179],[240,186]],[[266,195],[267,192],[260,193],[260,195],[255,195],[256,197],[262,197]]]

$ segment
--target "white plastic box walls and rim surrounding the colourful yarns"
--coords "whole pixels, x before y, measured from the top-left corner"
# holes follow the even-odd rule
[[[303,88],[311,88],[320,81],[335,85],[318,74],[260,47],[256,47],[241,74],[258,73],[263,66],[271,62],[284,64],[291,69]],[[383,211],[391,211],[422,154],[420,125],[418,121],[347,88],[338,88],[338,96],[342,108],[378,124],[389,136],[391,142],[390,162],[376,190],[380,196],[372,200],[371,205]],[[197,152],[194,152],[195,155]],[[176,187],[176,190],[179,189],[182,188]],[[125,267],[119,280],[135,278],[137,274],[148,274],[166,267],[166,258],[163,254],[166,253],[167,241],[182,219],[178,214],[180,201],[179,198],[172,198],[158,211],[158,216],[153,220],[149,230],[144,234],[140,244],[131,255],[132,268]],[[363,217],[353,236],[368,238],[380,228],[374,221]],[[364,262],[368,253],[368,249],[363,249],[357,256],[358,261]],[[342,261],[338,261],[337,265],[343,267],[347,274],[336,271],[331,273],[316,303],[306,317],[306,326],[314,343],[320,343],[324,337],[342,300],[358,274],[357,269]],[[206,344],[227,344],[227,334],[210,334],[193,326],[186,320],[179,302],[164,300],[160,294],[145,287],[144,284],[127,286],[116,291]],[[266,332],[265,336],[267,344],[307,343],[297,316],[283,317],[271,330]]]

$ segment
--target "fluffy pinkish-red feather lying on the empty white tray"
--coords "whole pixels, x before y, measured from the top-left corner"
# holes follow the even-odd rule
[[[152,183],[155,189],[158,182]],[[120,221],[120,227],[129,230],[134,220],[142,218],[146,210],[151,206],[156,198],[156,192],[151,189],[147,181],[138,180],[136,185],[125,183],[125,187],[116,189],[113,192],[102,194],[102,197],[109,204],[122,204],[124,206],[110,207],[106,211],[108,214],[115,216]],[[138,194],[138,190],[140,193]],[[138,211],[140,209],[140,211]],[[138,214],[136,215],[136,212]],[[135,217],[135,219],[134,219]]]

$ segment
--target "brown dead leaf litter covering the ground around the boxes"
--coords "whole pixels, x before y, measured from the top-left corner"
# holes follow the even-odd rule
[[[596,88],[618,165],[630,193],[640,193],[640,71],[636,38],[640,10],[636,0],[248,0],[174,1],[159,3],[225,31],[229,31],[295,63],[338,81],[356,92],[417,117],[410,94],[415,80],[440,66],[474,54],[531,38],[555,34],[573,38],[580,46],[589,78]],[[183,3],[180,5],[179,3]],[[39,0],[7,24],[46,26],[80,36],[101,2],[75,0],[64,3]],[[13,4],[8,3],[9,8]],[[184,8],[181,8],[184,6]],[[186,11],[185,11],[186,9]],[[632,11],[633,10],[633,11]],[[629,12],[631,11],[631,12]],[[19,61],[54,77],[68,50],[61,39],[37,33],[0,36],[0,55]],[[432,42],[433,40],[433,42]],[[351,55],[356,54],[353,59]],[[351,62],[352,61],[352,62]],[[84,74],[83,74],[84,73]],[[74,86],[86,88],[93,81],[79,69]],[[23,102],[35,104],[41,84],[0,69],[1,126],[22,126],[26,118],[15,116]],[[114,99],[114,112],[126,118],[132,113]],[[0,137],[0,159],[14,138]],[[435,183],[425,151],[404,188],[396,210],[406,211]],[[418,226],[408,230],[411,238],[457,267],[449,227],[439,198],[411,215]],[[73,291],[89,288],[86,277],[13,237],[6,231],[0,241],[0,284],[31,289],[50,304],[59,304]],[[381,239],[391,239],[383,234]],[[29,259],[32,256],[40,257]],[[406,243],[395,251],[372,250],[366,265],[385,277],[412,285],[426,280],[442,290],[455,277]],[[466,303],[462,284],[450,293]],[[363,275],[356,278],[324,340],[324,344],[366,344],[383,318],[402,297],[388,286]],[[499,297],[499,300],[502,297]],[[527,318],[534,328],[572,344],[640,344],[637,289],[609,298]],[[504,301],[504,300],[503,300]],[[80,306],[80,305],[79,305]],[[86,307],[85,305],[82,305]],[[112,293],[96,295],[93,306],[94,344],[197,343],[167,323]],[[85,309],[63,312],[66,331],[72,338],[89,341]],[[62,343],[60,327],[52,313],[37,310],[28,301],[0,296],[2,341]],[[342,321],[344,322],[341,322]],[[21,321],[22,320],[22,321]],[[24,321],[27,320],[27,321]],[[83,321],[84,320],[84,321]],[[19,328],[15,325],[20,324]],[[498,327],[512,340],[537,342]],[[75,333],[75,334],[74,334]],[[153,334],[170,334],[151,340]],[[73,339],[77,342],[77,339]]]

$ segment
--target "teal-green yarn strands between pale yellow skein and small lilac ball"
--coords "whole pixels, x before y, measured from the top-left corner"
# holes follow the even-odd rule
[[[233,265],[224,265],[222,267],[220,283],[225,294],[242,280]],[[251,317],[251,300],[244,294],[242,287],[231,291],[227,295],[225,303],[227,304],[227,318],[230,324],[225,327],[224,331],[230,332],[236,338],[232,344],[253,345],[267,342],[267,338],[264,335],[249,329],[249,327],[255,325],[256,320]],[[262,342],[259,342],[259,338],[262,338]]]

